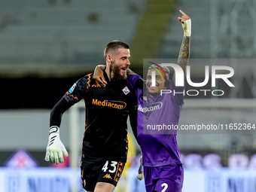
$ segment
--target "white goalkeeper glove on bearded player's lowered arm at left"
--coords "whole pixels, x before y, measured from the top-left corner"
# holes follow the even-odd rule
[[[68,157],[68,151],[59,139],[59,126],[50,126],[49,139],[46,148],[45,160],[51,163],[63,163],[64,157]]]

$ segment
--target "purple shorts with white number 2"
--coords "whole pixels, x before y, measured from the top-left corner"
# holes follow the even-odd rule
[[[147,192],[181,192],[184,178],[182,164],[159,167],[144,166]]]

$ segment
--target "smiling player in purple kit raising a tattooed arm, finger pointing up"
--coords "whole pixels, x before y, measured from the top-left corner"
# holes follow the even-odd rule
[[[178,17],[184,29],[184,39],[178,56],[178,66],[185,72],[190,48],[190,18],[183,11]],[[152,86],[152,73],[155,73],[155,85]],[[185,74],[185,73],[184,73]],[[166,77],[166,78],[162,78]],[[99,83],[102,81],[99,77]],[[149,191],[181,191],[183,184],[183,166],[176,140],[176,127],[184,105],[184,87],[175,86],[175,75],[169,81],[169,69],[159,65],[148,69],[146,92],[143,92],[143,81],[139,75],[130,72],[128,76],[138,100],[137,130],[135,136],[142,149],[146,190]],[[172,94],[160,95],[161,90],[171,90]],[[174,91],[177,94],[173,94]],[[178,94],[179,93],[179,94]],[[172,126],[171,130],[161,133],[156,126]],[[142,178],[143,173],[138,175]]]

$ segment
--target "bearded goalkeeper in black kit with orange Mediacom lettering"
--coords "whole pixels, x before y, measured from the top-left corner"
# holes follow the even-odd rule
[[[113,191],[122,174],[127,156],[127,117],[133,114],[136,96],[130,87],[126,69],[130,66],[130,48],[111,41],[104,51],[106,87],[99,87],[93,74],[78,80],[50,113],[49,141],[45,160],[63,163],[68,156],[59,139],[62,114],[84,99],[86,126],[81,157],[81,180],[87,191]]]

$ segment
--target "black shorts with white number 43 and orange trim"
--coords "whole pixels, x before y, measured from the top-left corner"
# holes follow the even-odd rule
[[[81,180],[85,190],[93,191],[97,182],[117,186],[125,165],[124,160],[106,160],[100,163],[81,161]]]

